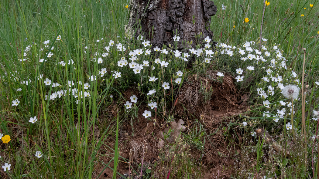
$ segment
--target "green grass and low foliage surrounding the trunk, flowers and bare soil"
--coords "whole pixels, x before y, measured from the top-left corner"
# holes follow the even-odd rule
[[[258,49],[263,3],[253,0],[222,0],[216,1],[215,4],[218,12],[211,18],[210,26],[214,34],[213,40],[236,46],[237,49],[246,41],[256,41],[257,44],[253,47]],[[226,6],[226,10],[221,9],[222,4]],[[314,6],[310,7],[309,4]],[[158,67],[158,64],[150,62],[149,68],[153,65],[156,67],[155,70],[147,70],[145,67],[141,74],[134,74],[130,68],[117,66],[117,61],[123,56],[129,61],[130,51],[144,48],[140,40],[128,39],[125,34],[124,26],[129,17],[126,5],[129,5],[128,0],[79,2],[16,0],[3,1],[0,4],[2,10],[0,13],[2,22],[0,24],[0,133],[11,136],[8,144],[1,142],[0,165],[6,162],[11,164],[11,170],[1,171],[1,178],[104,177],[102,172],[96,173],[97,166],[113,169],[117,166],[111,167],[111,163],[129,161],[118,154],[124,145],[123,140],[121,140],[123,143],[119,141],[119,130],[123,131],[122,127],[127,127],[125,124],[133,128],[136,121],[141,120],[139,111],[145,109],[152,111],[152,118],[148,118],[149,125],[165,126],[168,121],[178,120],[181,117],[170,111],[174,111],[171,109],[182,84],[188,82],[188,76],[194,74],[204,76],[207,69],[212,68],[236,77],[236,68],[240,67],[245,71],[245,78],[244,81],[235,84],[241,95],[249,94],[246,105],[249,110],[228,118],[217,129],[218,133],[222,133],[230,152],[232,147],[241,150],[241,155],[233,156],[238,165],[232,176],[247,178],[252,175],[268,177],[280,175],[284,178],[309,178],[309,176],[314,178],[317,175],[317,146],[314,154],[312,149],[313,143],[317,143],[318,140],[310,139],[315,135],[317,125],[316,121],[312,120],[312,110],[318,110],[319,106],[317,100],[319,92],[315,85],[315,82],[319,81],[317,56],[319,6],[316,0],[270,1],[265,10],[262,29],[262,37],[268,39],[262,42],[263,45],[271,49],[276,44],[287,60],[287,70],[273,70],[273,75],[278,73],[283,76],[285,84],[297,84],[294,81],[296,78],[292,76],[292,70],[297,73],[301,82],[302,48],[306,49],[304,81],[305,85],[309,86],[305,89],[308,102],[305,104],[307,145],[303,149],[300,149],[300,146],[304,145],[301,142],[304,140],[301,136],[301,99],[294,102],[295,136],[284,127],[291,120],[289,115],[280,119],[278,123],[269,120],[271,117],[263,117],[264,111],[270,111],[266,113],[272,116],[277,114],[280,100],[286,103],[289,101],[283,98],[276,88],[276,94],[267,98],[271,102],[271,108],[267,109],[262,106],[265,99],[257,94],[257,88],[263,88],[266,92],[269,84],[260,81],[266,76],[263,66],[269,64],[271,58],[276,58],[275,54],[271,54],[265,63],[255,65],[253,61],[243,62],[238,54],[233,57],[221,55],[219,50],[212,57],[215,64],[213,67],[205,65],[204,58],[196,57],[191,68],[188,68],[185,62],[174,58],[174,54],[161,54],[158,57],[141,55],[138,56],[141,62],[154,61],[156,58],[171,62],[167,68]],[[243,22],[245,18],[249,18],[248,23]],[[59,35],[61,39],[56,40]],[[97,39],[101,41],[97,42]],[[125,44],[127,52],[118,51],[112,46],[108,57],[103,58],[102,64],[92,61],[93,57],[98,58],[106,52],[104,47],[108,46],[111,39],[115,44],[117,42]],[[48,47],[43,44],[45,40],[50,40]],[[24,50],[30,44],[34,45],[24,57]],[[202,43],[197,44],[197,47],[202,45]],[[51,47],[54,49],[48,51]],[[175,50],[175,47],[177,45],[172,44],[167,49]],[[48,57],[49,52],[54,55]],[[183,52],[189,53],[188,50]],[[94,55],[95,53],[99,55]],[[23,58],[27,60],[21,62]],[[40,59],[44,59],[45,62],[39,62]],[[74,63],[68,64],[71,59]],[[60,61],[66,62],[66,65],[61,66]],[[245,67],[249,65],[254,65],[255,70],[246,70]],[[107,68],[105,76],[97,77],[98,80],[90,80],[92,75],[99,76],[101,68]],[[112,76],[111,71],[117,70],[122,72],[120,78]],[[181,84],[178,85],[174,81],[178,77],[175,72],[179,70],[183,75]],[[43,77],[38,79],[39,74]],[[148,76],[156,76],[159,79],[150,82]],[[58,82],[60,86],[53,87],[52,83],[45,85],[46,78]],[[222,78],[214,80],[223,82]],[[28,84],[23,84],[23,81],[28,81]],[[88,91],[90,97],[81,98],[80,95],[72,97],[72,91],[68,92],[71,97],[63,95],[56,100],[46,97],[55,91],[69,91],[69,81],[75,82],[74,88]],[[89,89],[85,89],[85,82],[89,83]],[[164,90],[161,87],[163,82],[169,82],[170,89]],[[271,85],[276,86],[277,83],[272,82]],[[21,91],[17,91],[19,88]],[[134,89],[136,95],[139,94],[138,103],[133,103],[130,110],[122,107],[126,101],[130,101],[129,98],[125,98],[124,91],[127,89]],[[157,92],[154,95],[147,95],[152,89],[156,89]],[[205,101],[210,99],[211,91],[203,89],[202,93]],[[110,95],[113,95],[113,98]],[[18,106],[11,105],[11,101],[15,99],[20,101]],[[157,111],[147,107],[151,101],[157,102],[159,106]],[[118,107],[113,109],[114,106]],[[155,115],[157,115],[156,120],[153,118]],[[28,122],[29,118],[34,116],[37,117],[37,122],[34,124]],[[183,120],[186,121],[185,118]],[[187,156],[190,156],[190,149],[206,154],[207,151],[205,152],[203,148],[206,145],[213,145],[211,137],[214,133],[205,129],[203,121],[196,118],[195,114],[189,121],[192,125],[181,140],[165,143],[163,150],[158,153],[159,161],[144,163],[151,170],[147,170],[148,175],[143,176],[144,178],[164,178],[168,171],[172,171],[171,178],[204,177],[203,172],[206,170],[203,169],[202,160]],[[243,121],[249,125],[243,127]],[[264,140],[258,139],[258,135],[252,137],[250,132],[257,128],[267,130],[278,144],[290,151],[290,156],[274,152],[275,149]],[[138,135],[138,132],[134,131],[135,135]],[[150,135],[156,136],[155,133]],[[239,143],[241,137],[244,141]],[[43,157],[36,158],[34,156],[36,151],[41,151]],[[174,154],[174,160],[166,159],[169,154]],[[220,154],[224,155],[228,154]],[[315,159],[314,169],[310,162],[312,156]],[[247,157],[254,159],[253,165],[249,163],[250,159],[247,160]],[[104,163],[103,158],[108,158],[108,163]],[[131,165],[135,167],[132,172],[139,175],[142,161],[130,162],[133,162]],[[117,177],[123,174],[114,170],[113,176],[107,178],[115,178],[116,173]]]

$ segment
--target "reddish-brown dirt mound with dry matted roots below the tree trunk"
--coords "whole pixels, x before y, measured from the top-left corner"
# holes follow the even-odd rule
[[[213,126],[222,117],[238,113],[240,95],[235,88],[233,78],[225,75],[218,80],[216,71],[209,70],[206,76],[192,75],[184,82],[179,93],[177,114],[196,115]]]

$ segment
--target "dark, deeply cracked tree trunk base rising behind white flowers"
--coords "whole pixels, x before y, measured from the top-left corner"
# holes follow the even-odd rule
[[[136,32],[135,36],[142,33],[154,46],[162,47],[173,43],[177,30],[180,41],[193,40],[195,44],[195,33],[212,37],[207,28],[216,11],[214,2],[209,0],[130,0],[126,32],[129,35]]]

